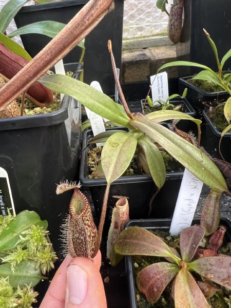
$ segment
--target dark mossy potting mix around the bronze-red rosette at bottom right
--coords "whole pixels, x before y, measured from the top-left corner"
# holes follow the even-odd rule
[[[168,232],[157,231],[153,232],[153,234],[161,237],[165,243],[171,247],[177,249],[178,253],[180,254],[180,239],[179,237],[170,236]],[[208,247],[207,241],[203,241],[204,246]],[[230,256],[230,243],[223,245],[220,248],[221,254],[227,254]],[[134,265],[134,273],[135,276],[146,266],[157,263],[157,262],[166,262],[164,258],[159,257],[148,257],[148,256],[134,256],[133,257],[133,265]],[[193,274],[193,272],[192,272]],[[193,274],[194,275],[194,274]],[[194,275],[195,276],[195,275]],[[196,274],[195,278],[200,280],[200,276]],[[171,296],[171,286],[172,281],[168,284],[165,288],[164,292],[162,293],[161,297],[155,304],[149,303],[145,296],[138,290],[136,286],[136,295],[137,295],[137,304],[139,308],[174,308],[174,301]],[[211,307],[214,308],[230,308],[231,307],[231,292],[221,287],[220,291],[218,291],[213,297],[207,299]],[[182,307],[183,308],[183,307]]]

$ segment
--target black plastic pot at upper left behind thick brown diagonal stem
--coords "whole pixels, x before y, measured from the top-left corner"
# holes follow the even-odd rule
[[[56,21],[67,24],[89,0],[67,0],[23,7],[15,16],[17,28],[40,21]],[[121,66],[124,0],[115,0],[115,8],[108,13],[85,39],[84,81],[97,80],[104,93],[112,95],[114,78],[111,69],[107,41],[113,44],[117,67]],[[21,36],[26,51],[33,57],[45,47],[51,38],[40,34]],[[64,63],[79,61],[81,48],[75,47],[64,57]]]

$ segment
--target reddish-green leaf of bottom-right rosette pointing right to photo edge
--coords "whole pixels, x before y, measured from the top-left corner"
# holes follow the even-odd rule
[[[231,289],[231,257],[200,258],[188,266],[207,279]]]

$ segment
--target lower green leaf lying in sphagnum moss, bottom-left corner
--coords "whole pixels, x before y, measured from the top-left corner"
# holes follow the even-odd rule
[[[9,283],[12,287],[31,285],[35,286],[44,277],[37,268],[35,262],[22,261],[20,262],[15,271],[11,271],[11,264],[4,263],[0,265],[0,277],[9,277]]]

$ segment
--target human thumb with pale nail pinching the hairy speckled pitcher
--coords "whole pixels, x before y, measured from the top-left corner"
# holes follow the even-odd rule
[[[65,308],[75,307],[107,307],[99,269],[86,258],[74,258],[67,267]]]

